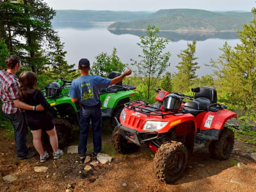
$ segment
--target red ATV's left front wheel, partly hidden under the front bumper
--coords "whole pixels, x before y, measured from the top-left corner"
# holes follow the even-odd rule
[[[116,152],[120,154],[131,154],[139,148],[135,143],[129,143],[125,140],[125,138],[120,134],[118,127],[115,127],[115,130],[113,131],[112,144]]]

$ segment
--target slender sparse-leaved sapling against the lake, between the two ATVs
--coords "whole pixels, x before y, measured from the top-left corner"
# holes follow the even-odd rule
[[[158,78],[170,66],[168,62],[171,56],[170,52],[163,53],[169,40],[160,38],[158,33],[159,28],[148,26],[147,36],[141,36],[140,43],[138,43],[143,52],[138,56],[141,61],[131,60],[134,62],[132,65],[138,68],[136,73],[141,78],[142,85],[147,88],[147,99],[150,99],[152,95],[150,90],[153,90]]]

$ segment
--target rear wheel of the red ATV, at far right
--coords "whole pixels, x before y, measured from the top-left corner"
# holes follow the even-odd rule
[[[224,127],[220,133],[219,140],[212,141],[209,145],[209,152],[214,159],[228,159],[233,150],[234,142],[234,132]]]

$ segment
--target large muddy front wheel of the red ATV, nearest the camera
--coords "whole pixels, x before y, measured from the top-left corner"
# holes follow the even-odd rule
[[[188,162],[188,150],[183,143],[172,141],[159,147],[154,157],[154,172],[157,179],[172,183],[179,179]]]

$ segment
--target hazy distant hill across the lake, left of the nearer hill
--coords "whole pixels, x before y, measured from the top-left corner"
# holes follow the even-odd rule
[[[145,19],[152,12],[112,12],[95,10],[56,10],[53,22],[109,22]]]

